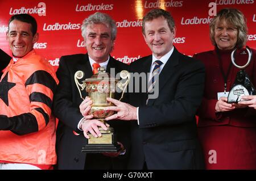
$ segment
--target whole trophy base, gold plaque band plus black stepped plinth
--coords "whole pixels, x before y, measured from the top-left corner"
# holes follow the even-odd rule
[[[121,150],[121,146],[117,144],[117,139],[114,134],[113,128],[104,130],[99,128],[101,137],[94,137],[89,134],[90,139],[88,144],[82,148],[82,153],[105,153],[105,152],[118,152]]]

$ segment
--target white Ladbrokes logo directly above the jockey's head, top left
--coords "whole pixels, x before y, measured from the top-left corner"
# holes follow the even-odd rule
[[[15,14],[38,14],[39,16],[46,16],[46,3],[39,2],[38,6],[34,6],[32,8],[26,8],[26,7],[20,7],[20,9],[13,9],[11,7],[9,14],[15,15]]]

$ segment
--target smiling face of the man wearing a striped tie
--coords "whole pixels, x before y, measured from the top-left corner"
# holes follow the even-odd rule
[[[163,16],[145,22],[144,30],[144,40],[156,58],[161,58],[172,49],[176,28],[171,31]]]

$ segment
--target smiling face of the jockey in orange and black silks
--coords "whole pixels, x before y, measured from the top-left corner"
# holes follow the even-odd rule
[[[31,24],[15,19],[9,24],[6,39],[9,41],[13,55],[23,57],[33,49],[34,43],[38,41],[38,33],[33,36]]]

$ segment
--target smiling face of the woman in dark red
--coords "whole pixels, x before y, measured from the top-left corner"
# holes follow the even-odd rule
[[[214,27],[214,40],[219,49],[230,50],[236,46],[238,30],[222,20]]]

